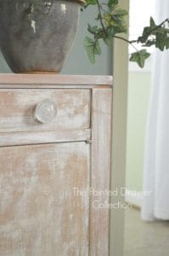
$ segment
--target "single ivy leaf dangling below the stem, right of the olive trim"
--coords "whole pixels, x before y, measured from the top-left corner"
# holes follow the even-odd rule
[[[134,61],[138,63],[139,67],[144,67],[144,62],[150,56],[149,52],[146,49],[141,49],[137,52],[132,53],[130,57],[130,61]]]

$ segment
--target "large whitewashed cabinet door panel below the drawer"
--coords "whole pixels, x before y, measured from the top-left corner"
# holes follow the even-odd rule
[[[0,148],[0,254],[88,255],[90,145]],[[75,193],[76,191],[76,193]]]

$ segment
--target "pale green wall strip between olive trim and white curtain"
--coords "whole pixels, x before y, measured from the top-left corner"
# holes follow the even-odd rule
[[[134,191],[142,190],[149,93],[150,72],[129,72],[126,187]]]

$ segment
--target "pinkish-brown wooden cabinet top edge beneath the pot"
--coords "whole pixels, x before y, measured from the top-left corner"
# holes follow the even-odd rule
[[[111,76],[55,75],[55,74],[0,74],[2,84],[59,84],[59,85],[112,85]]]

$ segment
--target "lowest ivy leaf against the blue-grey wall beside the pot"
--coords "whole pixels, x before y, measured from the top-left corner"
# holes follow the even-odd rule
[[[87,50],[87,56],[88,56],[89,61],[92,64],[94,64],[95,63],[95,55],[101,54],[101,48],[99,46],[99,41],[86,37],[84,40],[84,47]]]

